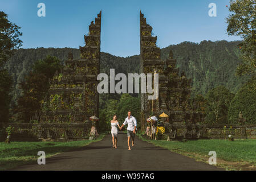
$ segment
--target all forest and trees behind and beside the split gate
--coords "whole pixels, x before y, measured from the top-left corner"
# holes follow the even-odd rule
[[[226,18],[226,31],[241,36],[242,41],[182,42],[161,49],[161,60],[168,58],[172,50],[179,74],[191,78],[188,104],[206,114],[206,123],[256,123],[256,28],[251,22],[255,19],[251,14],[254,9],[252,1],[230,2],[232,14]],[[80,51],[67,47],[22,49],[21,27],[7,17],[0,11],[0,121],[31,122],[43,109],[49,78],[63,68],[69,52],[79,59]],[[109,74],[111,68],[115,74],[139,73],[140,55],[119,57],[101,52],[100,72]],[[138,94],[100,94],[99,108],[101,129],[108,129],[113,114],[124,119],[126,111],[132,110],[138,118],[140,98]]]

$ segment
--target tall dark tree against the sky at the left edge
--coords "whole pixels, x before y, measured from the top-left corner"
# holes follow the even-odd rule
[[[19,36],[19,28],[7,19],[8,15],[0,11],[0,122],[9,120],[9,107],[11,101],[11,90],[13,90],[13,78],[3,68],[15,49],[22,46]]]

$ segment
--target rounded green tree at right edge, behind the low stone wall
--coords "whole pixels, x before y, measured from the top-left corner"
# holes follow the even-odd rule
[[[229,106],[229,122],[237,123],[238,114],[241,111],[246,123],[256,123],[256,84],[255,78],[251,78],[243,87],[235,94]]]

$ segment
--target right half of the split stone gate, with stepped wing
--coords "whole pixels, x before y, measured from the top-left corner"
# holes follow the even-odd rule
[[[159,73],[159,98],[148,100],[148,93],[141,93],[141,130],[143,131],[146,119],[152,111],[157,117],[164,111],[169,115],[171,124],[196,121],[189,102],[191,79],[187,79],[184,73],[178,75],[179,69],[176,68],[172,50],[168,59],[161,60],[161,49],[156,46],[156,41],[157,36],[152,36],[152,27],[147,24],[144,14],[140,11],[140,72]]]

